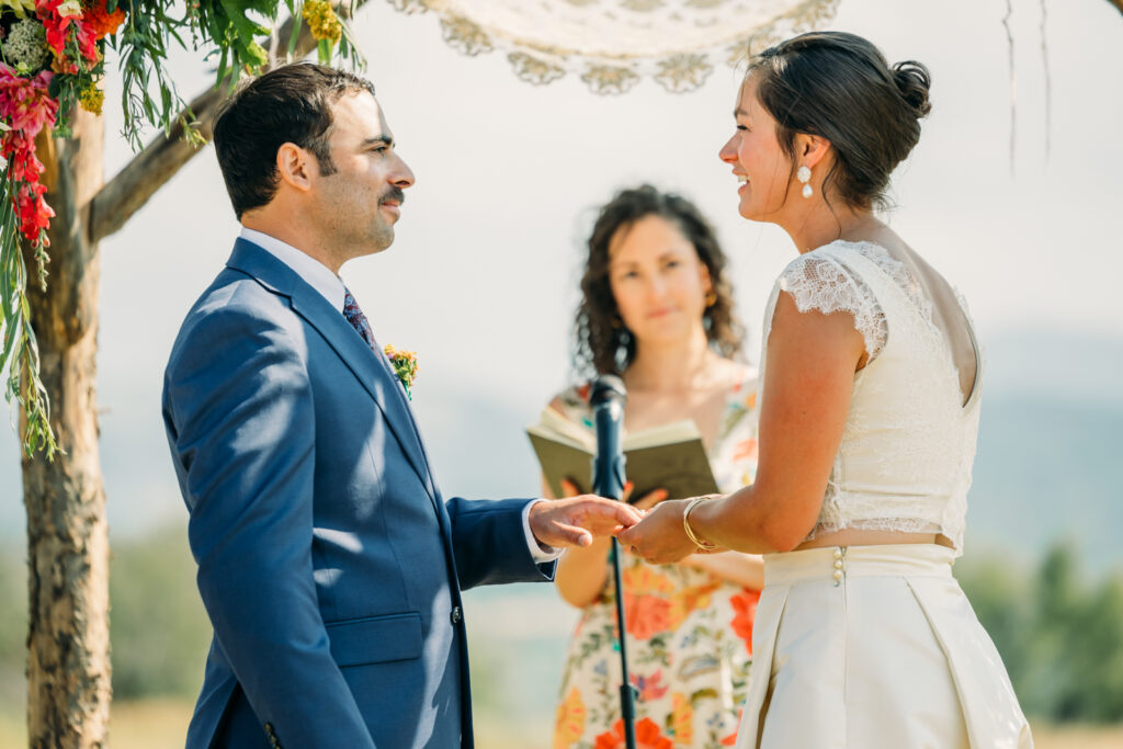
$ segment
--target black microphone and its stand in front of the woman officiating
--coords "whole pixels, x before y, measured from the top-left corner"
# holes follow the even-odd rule
[[[619,377],[602,375],[593,383],[590,402],[596,423],[596,457],[593,460],[593,493],[620,501],[624,486],[624,457],[620,449],[620,422],[627,399]],[[615,585],[617,628],[620,640],[620,716],[623,719],[624,746],[636,749],[636,691],[628,675],[627,628],[624,627],[624,587],[620,574],[620,541],[612,539],[612,578]]]

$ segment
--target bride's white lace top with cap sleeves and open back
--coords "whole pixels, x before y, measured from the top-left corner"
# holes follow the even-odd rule
[[[801,312],[853,314],[869,355],[855,374],[842,444],[809,540],[844,528],[937,532],[961,554],[979,421],[974,330],[978,371],[964,405],[931,300],[883,247],[838,240],[792,261],[765,311],[765,351],[780,291]],[[760,376],[768,376],[764,353]]]

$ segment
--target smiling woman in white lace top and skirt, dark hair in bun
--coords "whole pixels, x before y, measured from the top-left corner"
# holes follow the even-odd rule
[[[664,502],[620,535],[649,561],[765,554],[738,747],[1031,747],[951,575],[979,346],[947,281],[879,221],[929,73],[842,33],[752,58],[721,150],[741,216],[800,256],[765,316],[756,483]]]

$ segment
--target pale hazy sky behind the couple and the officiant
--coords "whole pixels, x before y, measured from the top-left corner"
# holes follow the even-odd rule
[[[932,72],[933,111],[895,175],[892,223],[967,295],[984,344],[1026,330],[1123,340],[1123,16],[1104,0],[1049,0],[1047,8],[1048,156],[1041,4],[1013,1],[1013,174],[1005,0],[842,0],[830,26]],[[566,382],[581,243],[592,212],[615,190],[649,181],[681,191],[718,226],[750,332],[747,353],[757,358],[765,298],[795,250],[775,227],[738,216],[738,184],[716,156],[731,134],[736,71],[716,70],[691,94],[645,81],[628,94],[599,97],[572,75],[548,86],[523,83],[497,53],[465,57],[445,45],[432,15],[403,16],[372,0],[354,26],[418,182],[394,245],[347,264],[343,276],[378,339],[419,353],[416,405],[427,433],[459,423],[473,403],[504,404],[496,418],[508,420],[510,444],[520,447],[495,491],[537,491],[521,428]],[[175,60],[186,98],[211,81],[200,58]],[[129,156],[116,136],[117,102],[111,86],[107,176]],[[221,268],[237,230],[208,149],[102,243],[99,401],[115,528],[185,518],[159,421],[161,378],[184,313]],[[1041,356],[1050,362],[1049,350]],[[1037,377],[989,364],[999,380]],[[1065,364],[1077,374],[1088,368],[1070,362],[1051,372]],[[15,439],[0,431],[0,479],[12,505]],[[440,453],[450,465],[487,449],[463,437],[464,455],[435,450],[448,494],[457,493],[449,484],[460,469],[442,473]],[[455,445],[450,439],[436,441]],[[147,467],[137,472],[136,464]],[[152,478],[138,485],[130,478],[138,473]],[[13,510],[0,519],[15,520]]]

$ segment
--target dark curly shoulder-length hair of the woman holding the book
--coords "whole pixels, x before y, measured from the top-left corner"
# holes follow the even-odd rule
[[[648,216],[658,216],[677,227],[710,272],[713,303],[702,318],[710,347],[729,358],[741,353],[745,332],[733,312],[733,287],[725,275],[725,253],[718,234],[694,203],[645,184],[617,193],[601,209],[588,237],[574,326],[574,368],[578,378],[622,374],[636,358],[636,337],[622,323],[609,282],[609,246],[618,232]]]

